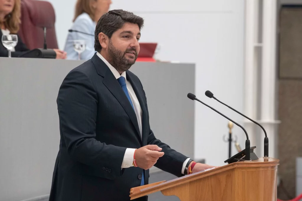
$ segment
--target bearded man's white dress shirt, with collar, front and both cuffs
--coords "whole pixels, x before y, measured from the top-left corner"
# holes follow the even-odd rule
[[[128,93],[129,93],[129,96],[130,96],[130,99],[132,101],[134,111],[135,111],[135,114],[136,114],[136,117],[137,117],[138,127],[140,129],[140,136],[142,137],[142,113],[143,113],[143,111],[142,111],[142,108],[140,107],[140,102],[138,101],[137,96],[134,93],[134,90],[133,90],[130,82],[127,81],[126,72],[122,72],[122,74],[120,74],[100,53],[96,53],[96,54],[108,66],[108,68],[111,70],[111,72],[113,73],[113,75],[116,79],[120,78],[121,76],[123,76],[126,79],[127,90],[128,90]],[[135,151],[134,148],[127,148],[126,149],[121,168],[129,168],[129,167],[133,166],[132,163],[133,163],[134,151]],[[182,174],[184,174],[185,166],[188,163],[189,159],[190,158],[187,158],[185,160],[185,162],[183,163],[183,165],[182,165]]]

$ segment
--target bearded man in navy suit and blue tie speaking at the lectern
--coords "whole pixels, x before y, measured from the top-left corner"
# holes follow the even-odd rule
[[[143,86],[128,71],[141,27],[133,13],[104,14],[95,30],[97,53],[64,79],[50,201],[130,200],[130,188],[148,184],[153,165],[178,177],[213,167],[171,149],[150,129]]]

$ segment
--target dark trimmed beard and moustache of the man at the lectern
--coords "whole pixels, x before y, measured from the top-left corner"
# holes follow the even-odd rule
[[[127,52],[135,51],[135,57],[134,60],[129,60],[125,57]],[[118,72],[124,72],[130,69],[130,67],[135,63],[137,59],[137,51],[136,48],[132,47],[129,49],[126,49],[125,52],[120,51],[119,49],[116,49],[113,45],[111,40],[109,40],[108,43],[108,54],[109,54],[109,63],[118,71]]]

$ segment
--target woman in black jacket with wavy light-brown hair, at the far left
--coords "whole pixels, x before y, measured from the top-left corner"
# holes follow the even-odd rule
[[[0,40],[2,35],[17,34],[21,17],[21,0],[0,0]],[[18,34],[17,34],[18,35]],[[56,52],[56,59],[66,59],[66,52],[53,49]],[[18,36],[17,45],[11,50],[12,57],[18,57],[29,51],[26,45]],[[8,50],[0,42],[0,57],[8,57]]]

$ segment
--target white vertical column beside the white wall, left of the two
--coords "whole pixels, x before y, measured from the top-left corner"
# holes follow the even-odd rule
[[[244,113],[253,120],[257,119],[257,54],[258,43],[258,3],[259,0],[245,1],[245,104]],[[244,120],[244,127],[249,135],[251,146],[257,144],[255,124]],[[245,145],[241,145],[245,147]],[[257,146],[258,148],[258,146]],[[257,154],[257,150],[255,150]]]

